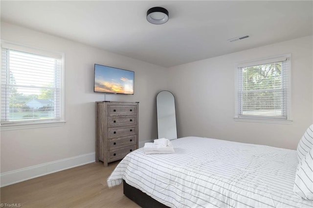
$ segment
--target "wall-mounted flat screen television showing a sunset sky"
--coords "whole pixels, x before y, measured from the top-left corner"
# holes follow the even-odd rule
[[[94,64],[93,91],[134,95],[134,71]]]

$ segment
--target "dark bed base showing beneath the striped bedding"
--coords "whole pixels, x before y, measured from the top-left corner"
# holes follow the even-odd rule
[[[169,208],[123,180],[124,194],[142,208]]]

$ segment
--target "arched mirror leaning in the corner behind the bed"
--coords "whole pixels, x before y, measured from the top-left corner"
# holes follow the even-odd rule
[[[177,139],[175,98],[169,91],[161,91],[156,96],[157,137]]]

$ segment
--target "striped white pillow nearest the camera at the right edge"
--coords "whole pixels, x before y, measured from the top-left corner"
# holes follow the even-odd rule
[[[307,200],[313,200],[313,149],[298,164],[293,191]]]

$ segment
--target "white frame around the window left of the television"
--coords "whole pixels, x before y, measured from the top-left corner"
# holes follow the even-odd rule
[[[9,122],[3,122],[0,124],[0,130],[15,130],[15,129],[25,129],[25,128],[40,128],[40,127],[51,127],[51,126],[60,126],[65,124],[65,88],[64,88],[64,82],[65,82],[65,70],[64,70],[64,62],[65,62],[65,54],[62,52],[53,52],[48,51],[41,48],[35,48],[27,45],[22,45],[19,43],[14,42],[8,42],[5,40],[1,40],[1,53],[2,48],[17,50],[21,52],[26,53],[32,53],[42,56],[48,56],[53,58],[59,58],[61,59],[61,69],[60,69],[60,118],[58,119],[46,119],[46,120],[30,120],[30,121],[9,121]],[[1,60],[2,63],[2,55]],[[2,69],[1,69],[2,71]],[[2,76],[2,74],[1,74]],[[2,87],[2,83],[1,83]],[[2,89],[1,89],[2,92]],[[2,109],[3,106],[0,105],[0,109]]]

